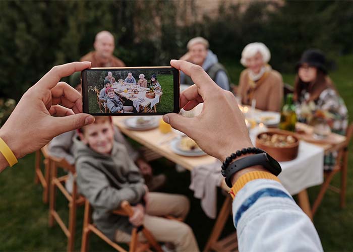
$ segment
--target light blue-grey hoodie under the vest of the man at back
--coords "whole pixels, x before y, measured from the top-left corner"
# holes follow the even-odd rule
[[[217,55],[214,54],[211,50],[207,51],[207,56],[205,58],[205,61],[202,64],[203,70],[207,71],[209,70],[214,64],[218,62]],[[227,74],[224,71],[219,71],[214,80],[213,80],[218,86],[220,86],[222,89],[229,90],[229,79]],[[185,74],[181,71],[180,73],[180,83],[181,84],[186,84],[185,80]]]

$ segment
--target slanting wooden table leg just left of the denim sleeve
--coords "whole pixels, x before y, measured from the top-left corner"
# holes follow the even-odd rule
[[[223,227],[225,225],[225,222],[227,221],[229,217],[229,213],[231,211],[231,202],[232,199],[230,196],[227,196],[224,200],[223,206],[218,214],[216,223],[213,226],[212,232],[210,237],[208,238],[208,241],[206,243],[206,246],[203,251],[209,251],[212,249],[212,245],[217,242]]]

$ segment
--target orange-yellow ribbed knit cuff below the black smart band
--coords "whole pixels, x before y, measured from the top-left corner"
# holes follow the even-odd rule
[[[237,182],[233,184],[233,186],[230,188],[229,194],[231,198],[234,199],[236,197],[237,193],[244,187],[244,185],[247,182],[250,182],[255,179],[272,179],[275,181],[279,181],[279,179],[273,175],[272,173],[268,171],[250,171],[248,173],[245,173],[242,175],[240,178],[238,178]]]

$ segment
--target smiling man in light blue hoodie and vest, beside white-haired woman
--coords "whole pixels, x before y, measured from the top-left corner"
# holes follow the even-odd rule
[[[188,52],[180,59],[187,60],[201,66],[211,79],[221,88],[229,90],[229,77],[225,68],[218,62],[217,55],[208,49],[209,43],[202,37],[190,39],[187,48]],[[189,76],[181,72],[180,83],[193,85],[194,82]]]

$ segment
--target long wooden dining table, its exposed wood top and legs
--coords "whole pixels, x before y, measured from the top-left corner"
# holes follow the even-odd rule
[[[201,156],[201,157],[185,157],[185,156],[175,154],[174,152],[171,151],[169,144],[174,137],[178,136],[177,133],[172,132],[172,133],[169,133],[168,135],[165,135],[165,134],[162,134],[158,128],[149,130],[149,131],[132,131],[132,130],[129,130],[124,123],[124,120],[126,118],[127,117],[125,116],[115,116],[113,117],[113,123],[117,125],[117,127],[119,127],[119,129],[128,137],[134,139],[138,143],[146,146],[147,148],[153,150],[154,152],[160,154],[161,156],[173,161],[174,163],[185,167],[188,170],[192,170],[194,167],[197,167],[203,164],[209,164],[216,161],[216,158],[208,155]],[[158,118],[161,118],[161,116],[158,116]],[[312,128],[306,124],[303,124],[303,123],[297,123],[297,124],[298,124],[298,127],[303,130],[312,131]],[[330,139],[330,143],[316,142],[314,144],[319,145],[325,151],[332,151],[341,147],[345,141],[344,136],[337,135],[337,134],[331,134],[329,139]],[[221,188],[224,191],[229,192],[229,187],[225,184],[224,180],[222,182]],[[218,214],[217,220],[212,229],[209,240],[204,248],[204,251],[208,251],[210,249],[213,249],[216,251],[222,251],[222,250],[230,251],[231,249],[234,249],[234,244],[237,245],[236,243],[234,243],[236,242],[236,238],[234,238],[234,234],[227,236],[222,240],[218,240],[221,234],[221,231],[223,230],[223,227],[231,212],[231,203],[232,201],[229,196],[225,199],[222,205],[222,208]],[[312,219],[313,217],[312,217],[309,197],[306,189],[301,191],[298,194],[298,204],[303,209],[303,211]]]

